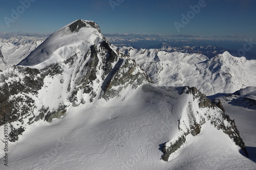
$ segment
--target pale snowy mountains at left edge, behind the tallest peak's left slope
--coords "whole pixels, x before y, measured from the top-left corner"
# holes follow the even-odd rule
[[[44,37],[28,36],[0,39],[0,69],[3,70],[18,64],[45,39]]]

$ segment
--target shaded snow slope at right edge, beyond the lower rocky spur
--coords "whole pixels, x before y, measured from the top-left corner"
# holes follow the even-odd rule
[[[217,98],[215,98],[217,96]],[[225,112],[236,121],[241,137],[246,143],[249,159],[256,167],[256,87],[246,87],[230,94],[216,94],[210,96],[220,100]],[[253,168],[252,168],[253,169]]]

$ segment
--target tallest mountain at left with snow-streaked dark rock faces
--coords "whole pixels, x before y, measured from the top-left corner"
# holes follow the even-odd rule
[[[99,27],[95,22],[83,20],[77,20],[59,32],[66,30],[65,34],[68,32],[75,36],[82,34],[80,32],[84,31],[84,27],[94,30],[92,37],[96,33],[101,35],[97,32]],[[54,33],[50,40],[54,40],[54,35],[58,34]],[[15,66],[0,72],[0,126],[4,124],[3,116],[7,112],[11,127],[10,141],[18,140],[18,135],[38,120],[52,122],[54,118],[65,115],[69,107],[92,103],[97,96],[110,100],[115,96],[119,97],[119,93],[125,88],[136,89],[150,81],[135,61],[118,55],[103,35],[95,37],[92,42],[95,44],[88,48],[87,44],[78,43],[77,48],[84,51],[76,51],[76,46],[70,47],[70,51],[69,47],[62,44],[63,50],[58,50],[58,55],[64,60],[43,68]],[[51,46],[49,50],[45,48],[45,43],[55,44],[56,47]],[[43,57],[47,54],[53,58],[56,52],[52,49],[59,49],[57,46],[57,43],[48,39],[19,65],[35,64],[48,59],[40,60],[36,56],[33,60],[31,57],[35,57],[35,54]],[[41,47],[44,47],[42,53]]]

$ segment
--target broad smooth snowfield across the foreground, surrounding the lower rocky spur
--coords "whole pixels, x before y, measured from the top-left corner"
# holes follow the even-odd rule
[[[156,87],[156,86],[155,86]],[[169,88],[166,96],[145,92],[142,87],[126,100],[98,100],[91,106],[72,108],[49,124],[32,126],[11,144],[5,169],[254,169],[255,110],[224,104],[236,119],[250,159],[222,131],[208,123],[202,132],[188,135],[185,144],[169,162],[160,160],[162,143],[175,138],[181,106],[187,94],[179,96]],[[125,96],[125,93],[123,93]],[[155,98],[154,98],[155,96]],[[245,126],[246,125],[246,126]],[[2,151],[1,151],[2,152]],[[3,155],[3,153],[1,154]],[[3,161],[3,160],[1,160]]]

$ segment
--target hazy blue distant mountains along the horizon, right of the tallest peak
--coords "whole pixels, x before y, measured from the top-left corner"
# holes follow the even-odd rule
[[[228,41],[214,39],[172,39],[157,37],[147,38],[126,38],[126,37],[107,37],[107,39],[115,46],[132,46],[134,48],[157,48],[166,50],[167,52],[182,52],[182,53],[201,53],[208,58],[212,58],[217,54],[222,54],[225,51],[232,54],[234,57],[241,57],[239,50],[243,50],[245,41]],[[251,45],[251,44],[250,44]],[[247,44],[248,46],[248,44]],[[241,53],[241,52],[240,52]],[[246,59],[256,59],[256,46],[253,45],[249,51],[244,53]]]

